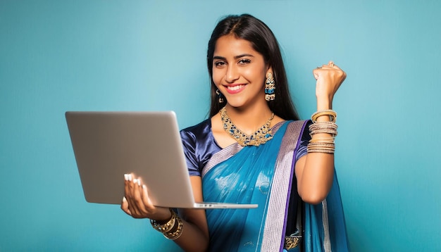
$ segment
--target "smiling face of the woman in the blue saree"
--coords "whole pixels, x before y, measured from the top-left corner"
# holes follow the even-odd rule
[[[213,53],[213,82],[230,106],[239,108],[266,103],[263,88],[271,68],[251,43],[225,35],[216,42]]]

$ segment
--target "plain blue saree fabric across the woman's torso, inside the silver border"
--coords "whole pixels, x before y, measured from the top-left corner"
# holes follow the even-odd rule
[[[204,201],[259,204],[254,209],[206,210],[210,251],[260,251],[269,189],[286,125],[271,141],[245,146],[204,175]]]

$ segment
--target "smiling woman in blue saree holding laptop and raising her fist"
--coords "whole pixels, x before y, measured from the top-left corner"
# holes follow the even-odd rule
[[[259,203],[256,209],[152,206],[147,186],[125,181],[121,208],[185,251],[347,251],[334,171],[333,96],[346,74],[313,70],[317,113],[300,121],[273,32],[251,15],[230,15],[207,52],[211,112],[182,130],[196,201]]]

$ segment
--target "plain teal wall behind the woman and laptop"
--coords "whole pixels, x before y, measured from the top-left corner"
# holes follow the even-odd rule
[[[0,0],[0,251],[175,251],[86,203],[65,111],[206,118],[211,30],[251,13],[282,47],[302,118],[311,71],[347,72],[336,165],[352,251],[441,251],[441,1]],[[123,182],[123,177],[121,177]]]

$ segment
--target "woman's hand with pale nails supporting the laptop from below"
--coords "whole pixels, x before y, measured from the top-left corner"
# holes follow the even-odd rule
[[[147,193],[147,186],[142,184],[141,179],[132,174],[124,175],[125,196],[121,203],[121,209],[133,218],[149,218],[151,220],[169,220],[171,213],[169,208],[154,206]]]

